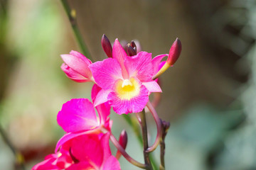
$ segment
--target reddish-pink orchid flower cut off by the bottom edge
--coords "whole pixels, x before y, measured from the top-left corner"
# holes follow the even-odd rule
[[[50,154],[32,170],[119,170],[119,162],[110,151],[109,139],[109,133],[74,137],[63,143],[58,154]],[[68,154],[63,156],[62,150]]]

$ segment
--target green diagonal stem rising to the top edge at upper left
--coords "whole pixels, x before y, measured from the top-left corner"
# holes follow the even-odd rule
[[[78,23],[77,23],[77,19],[76,19],[75,9],[70,8],[67,0],[61,0],[61,3],[63,4],[65,13],[67,13],[67,15],[68,15],[68,19],[70,21],[73,32],[75,34],[75,38],[78,41],[78,45],[79,45],[80,49],[82,50],[83,55],[85,55],[88,59],[92,60],[92,57],[90,56],[90,52],[87,49],[87,46],[85,45],[84,40],[82,39],[80,30],[78,29]]]

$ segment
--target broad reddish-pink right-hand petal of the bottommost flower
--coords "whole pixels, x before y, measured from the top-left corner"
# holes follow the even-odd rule
[[[77,163],[67,170],[102,169],[119,170],[117,159],[112,156],[109,145],[110,134],[82,135],[74,138],[70,152]]]

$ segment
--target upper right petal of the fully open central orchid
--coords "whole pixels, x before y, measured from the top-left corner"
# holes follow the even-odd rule
[[[129,77],[137,77],[140,81],[149,81],[153,77],[151,53],[139,52],[132,57],[126,57],[124,66],[127,68]]]

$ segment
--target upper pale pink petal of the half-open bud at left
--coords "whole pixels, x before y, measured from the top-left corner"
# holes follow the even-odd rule
[[[67,64],[71,69],[75,70],[75,72],[82,74],[82,76],[86,77],[87,79],[92,77],[92,72],[88,67],[89,64],[80,56],[60,55],[60,57],[62,57],[65,64]]]

